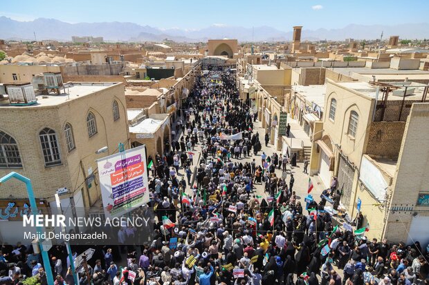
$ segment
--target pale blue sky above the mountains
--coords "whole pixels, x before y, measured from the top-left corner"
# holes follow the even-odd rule
[[[121,21],[183,29],[271,26],[283,31],[294,25],[315,30],[349,23],[423,23],[428,14],[428,0],[6,0],[0,6],[0,16],[18,21],[44,17],[69,23]]]

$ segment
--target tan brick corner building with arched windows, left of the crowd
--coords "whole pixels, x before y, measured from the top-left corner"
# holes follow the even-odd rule
[[[120,142],[125,148],[130,144],[122,83],[73,83],[65,91],[39,95],[30,106],[1,99],[0,177],[16,171],[30,178],[35,197],[51,208],[56,191],[67,188],[62,204],[69,215],[71,204],[84,210],[100,197],[95,159],[116,153]],[[96,154],[104,146],[107,152]],[[8,181],[0,191],[2,199],[28,201],[20,182]],[[0,223],[2,235],[3,225],[14,229]]]

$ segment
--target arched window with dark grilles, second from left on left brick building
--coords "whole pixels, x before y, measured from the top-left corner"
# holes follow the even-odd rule
[[[45,166],[54,166],[61,164],[60,147],[55,130],[44,128],[39,132],[40,144],[42,144]]]

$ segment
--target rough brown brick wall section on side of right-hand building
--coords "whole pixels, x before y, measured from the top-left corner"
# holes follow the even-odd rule
[[[396,159],[401,148],[404,129],[404,121],[372,122],[369,126],[366,153],[380,158]]]

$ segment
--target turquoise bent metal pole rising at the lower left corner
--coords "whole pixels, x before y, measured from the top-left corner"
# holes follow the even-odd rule
[[[0,186],[1,186],[1,184],[3,184],[3,182],[6,182],[12,178],[18,179],[19,181],[24,182],[24,184],[26,184],[28,200],[30,201],[31,213],[36,216],[37,215],[37,204],[36,204],[36,199],[35,199],[35,195],[33,192],[33,186],[31,185],[31,180],[29,178],[23,176],[23,175],[20,175],[19,173],[16,173],[15,171],[12,171],[8,175],[0,178]],[[36,230],[37,230],[37,235],[41,236],[42,235],[42,227],[37,226]],[[40,252],[42,253],[44,269],[46,272],[46,281],[48,282],[48,285],[53,285],[54,281],[53,281],[53,275],[52,275],[52,270],[51,270],[51,264],[49,262],[48,252],[46,250],[44,250],[44,248],[42,246],[42,241],[39,241],[39,248],[40,248]]]

